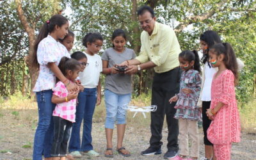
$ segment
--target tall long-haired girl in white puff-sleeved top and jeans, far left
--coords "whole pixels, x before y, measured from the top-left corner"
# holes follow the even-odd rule
[[[54,15],[47,20],[35,42],[35,55],[32,64],[39,67],[39,76],[35,88],[38,104],[38,126],[35,132],[33,159],[45,159],[51,157],[51,145],[53,138],[52,88],[56,83],[56,77],[65,84],[68,91],[77,92],[76,84],[72,84],[63,76],[58,64],[63,56],[70,57],[64,45],[58,42],[68,33],[68,20],[62,15]]]

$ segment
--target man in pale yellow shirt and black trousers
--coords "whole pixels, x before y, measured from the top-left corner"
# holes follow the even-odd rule
[[[150,147],[141,152],[141,155],[162,153],[161,139],[165,114],[168,124],[168,151],[164,154],[164,158],[174,158],[179,150],[179,124],[178,120],[173,118],[176,112],[175,103],[170,104],[168,100],[175,93],[179,93],[180,45],[173,29],[156,22],[154,11],[149,6],[139,8],[138,20],[144,30],[141,33],[140,56],[134,60],[124,61],[122,65],[129,66],[125,74],[135,74],[140,70],[154,67],[152,105],[157,105],[157,111],[151,113]]]

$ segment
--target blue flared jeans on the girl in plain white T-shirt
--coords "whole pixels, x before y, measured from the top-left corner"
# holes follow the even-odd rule
[[[78,95],[76,107],[76,122],[73,123],[68,151],[88,151],[92,150],[92,116],[97,102],[97,88],[84,88]],[[82,120],[83,138],[80,141],[80,128]]]

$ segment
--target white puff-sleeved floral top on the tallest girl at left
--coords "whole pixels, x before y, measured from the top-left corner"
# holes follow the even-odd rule
[[[61,58],[63,56],[70,58],[70,54],[64,45],[48,35],[38,44],[36,56],[40,70],[33,91],[51,90],[55,86],[56,76],[47,66],[48,63],[54,62],[58,66]]]

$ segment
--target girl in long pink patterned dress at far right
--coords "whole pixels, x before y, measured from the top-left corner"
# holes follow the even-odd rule
[[[209,51],[212,67],[218,67],[211,87],[211,107],[207,116],[212,120],[207,137],[213,144],[218,160],[230,159],[232,142],[239,142],[241,127],[236,102],[236,55],[228,43],[215,44]]]

